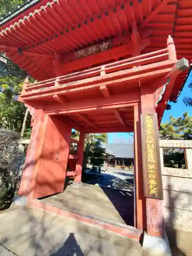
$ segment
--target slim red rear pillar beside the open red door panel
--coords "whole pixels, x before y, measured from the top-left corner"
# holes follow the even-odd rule
[[[77,145],[77,161],[76,161],[76,168],[75,168],[77,175],[75,176],[75,179],[74,179],[74,181],[76,182],[81,181],[83,153],[84,153],[84,133],[80,132],[79,142]]]

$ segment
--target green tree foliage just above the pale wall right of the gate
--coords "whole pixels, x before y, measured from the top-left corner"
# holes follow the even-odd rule
[[[169,117],[169,121],[160,125],[161,139],[192,139],[192,117],[187,112],[182,117]]]

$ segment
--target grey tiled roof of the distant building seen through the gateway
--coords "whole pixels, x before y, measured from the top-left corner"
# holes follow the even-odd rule
[[[117,158],[134,158],[133,144],[103,143],[102,147],[105,148],[106,153],[110,151]]]

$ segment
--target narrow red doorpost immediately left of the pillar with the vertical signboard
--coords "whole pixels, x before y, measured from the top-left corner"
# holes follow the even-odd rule
[[[135,176],[135,227],[146,230],[146,200],[143,189],[141,148],[141,105],[134,106],[134,176]]]

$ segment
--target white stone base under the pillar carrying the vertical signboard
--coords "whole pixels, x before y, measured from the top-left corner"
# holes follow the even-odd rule
[[[172,253],[170,251],[168,238],[165,236],[164,238],[153,237],[144,233],[143,238],[143,250],[146,251],[150,256],[171,256]]]

